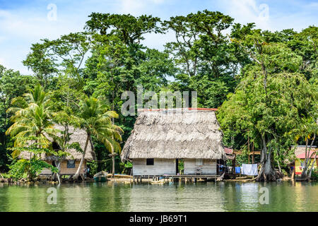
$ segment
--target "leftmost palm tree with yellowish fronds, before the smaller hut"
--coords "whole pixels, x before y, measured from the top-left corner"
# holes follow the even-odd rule
[[[11,107],[7,112],[13,113],[11,121],[13,124],[6,131],[6,135],[15,137],[15,147],[23,147],[30,139],[39,143],[38,148],[47,148],[49,140],[47,135],[56,133],[52,121],[52,112],[49,111],[47,105],[47,94],[40,85],[37,85],[33,91],[24,95],[22,105],[24,108]],[[18,98],[13,99],[17,102]],[[33,139],[32,137],[35,137]],[[13,157],[20,155],[20,151],[16,149]]]

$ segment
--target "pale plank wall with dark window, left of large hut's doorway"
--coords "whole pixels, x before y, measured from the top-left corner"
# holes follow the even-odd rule
[[[160,159],[155,158],[153,165],[146,165],[146,158],[134,159],[133,174],[140,175],[175,175],[175,159]]]

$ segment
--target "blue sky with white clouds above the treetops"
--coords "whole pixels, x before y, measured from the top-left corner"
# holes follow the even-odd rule
[[[57,20],[47,17],[52,11],[50,4],[57,7]],[[0,64],[30,74],[21,61],[31,44],[81,31],[91,12],[151,14],[168,19],[204,9],[230,15],[236,23],[254,22],[266,30],[300,31],[318,21],[317,0],[0,0]],[[171,40],[172,34],[150,34],[144,44],[162,50]]]

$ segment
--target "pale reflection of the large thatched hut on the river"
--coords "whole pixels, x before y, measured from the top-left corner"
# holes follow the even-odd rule
[[[204,184],[145,184],[131,189],[131,211],[224,211],[223,195]],[[215,205],[214,203],[218,203]]]

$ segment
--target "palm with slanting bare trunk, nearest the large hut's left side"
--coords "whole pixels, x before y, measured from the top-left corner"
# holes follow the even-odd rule
[[[92,143],[92,136],[104,143],[110,152],[120,152],[121,147],[117,141],[122,141],[121,133],[124,131],[119,126],[112,124],[112,119],[117,117],[118,114],[116,112],[107,111],[107,107],[102,105],[98,99],[89,97],[83,100],[79,118],[81,120],[81,128],[86,131],[87,137],[83,156],[73,179],[77,180],[79,177],[85,160],[88,142]]]

